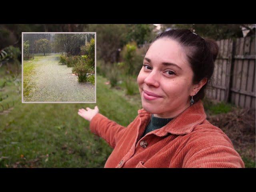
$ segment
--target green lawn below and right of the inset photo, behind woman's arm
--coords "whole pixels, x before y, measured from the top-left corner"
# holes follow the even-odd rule
[[[97,76],[100,113],[127,126],[139,106],[117,95],[106,81]],[[14,101],[14,107],[0,114],[0,167],[104,167],[112,148],[77,114],[79,108],[96,104],[22,104],[16,90],[9,82],[1,91],[9,95],[1,104]]]

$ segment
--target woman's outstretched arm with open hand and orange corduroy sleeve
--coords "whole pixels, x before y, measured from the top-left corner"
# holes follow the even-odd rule
[[[88,107],[86,110],[79,109],[78,115],[90,121],[90,130],[92,133],[102,137],[112,148],[116,146],[116,142],[122,134],[121,131],[125,128],[124,126],[100,114],[97,106],[95,106],[94,109]]]

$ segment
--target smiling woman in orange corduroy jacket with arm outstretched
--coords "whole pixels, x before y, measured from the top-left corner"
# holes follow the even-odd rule
[[[244,168],[230,139],[206,120],[202,98],[218,45],[190,30],[159,34],[137,82],[142,109],[127,128],[94,109],[79,109],[114,150],[105,168]]]

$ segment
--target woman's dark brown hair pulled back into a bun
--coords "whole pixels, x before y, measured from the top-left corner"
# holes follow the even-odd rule
[[[194,73],[192,78],[193,84],[198,84],[200,80],[207,78],[207,83],[193,96],[195,102],[203,99],[208,82],[212,83],[211,77],[214,72],[214,61],[219,51],[216,42],[210,38],[203,39],[186,29],[162,32],[156,36],[152,43],[160,38],[176,40],[185,49],[188,62]]]

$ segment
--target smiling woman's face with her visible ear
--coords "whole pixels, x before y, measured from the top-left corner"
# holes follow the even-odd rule
[[[143,61],[137,82],[142,107],[161,118],[173,118],[190,106],[193,71],[178,42],[160,38]]]

